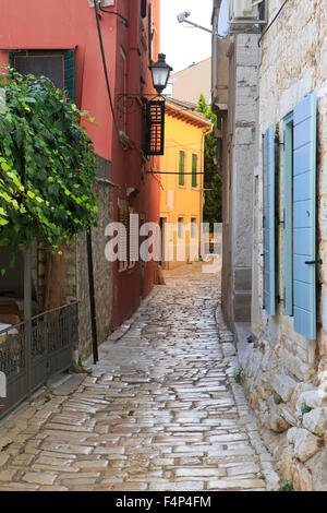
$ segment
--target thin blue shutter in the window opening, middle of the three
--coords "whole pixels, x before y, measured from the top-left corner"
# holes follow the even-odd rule
[[[293,115],[283,120],[283,313],[293,315]]]

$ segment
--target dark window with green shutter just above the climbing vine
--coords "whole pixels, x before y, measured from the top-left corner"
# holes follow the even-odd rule
[[[9,52],[10,65],[22,74],[45,75],[74,102],[75,50],[24,50]]]

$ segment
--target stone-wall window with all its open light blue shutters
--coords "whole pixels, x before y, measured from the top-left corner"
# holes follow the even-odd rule
[[[294,331],[316,338],[316,124],[312,93],[283,120],[283,313]],[[275,314],[275,127],[265,134],[264,308]]]

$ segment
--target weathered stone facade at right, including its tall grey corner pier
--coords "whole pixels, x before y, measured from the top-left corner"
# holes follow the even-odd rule
[[[220,3],[214,1],[214,16]],[[303,491],[327,490],[327,272],[325,265],[317,269],[317,337],[307,339],[294,331],[293,317],[283,313],[282,120],[306,95],[316,92],[316,252],[317,259],[325,262],[326,8],[326,0],[294,0],[284,4],[269,0],[267,32],[262,37],[233,36],[228,51],[228,127],[223,133],[228,148],[222,166],[223,313],[237,334],[242,382],[264,440],[279,458],[286,481]],[[272,123],[277,134],[276,313],[270,315],[264,305],[263,134]],[[251,324],[246,322],[250,315],[240,317],[235,309],[238,296],[242,297],[238,291],[244,289],[246,302],[251,287],[247,285],[247,290],[243,285],[238,287],[237,282],[243,285],[252,282]]]

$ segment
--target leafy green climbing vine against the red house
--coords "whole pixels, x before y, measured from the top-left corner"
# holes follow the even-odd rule
[[[96,156],[80,111],[46,77],[0,76],[0,246],[57,250],[97,222]],[[87,118],[94,121],[92,118]]]

